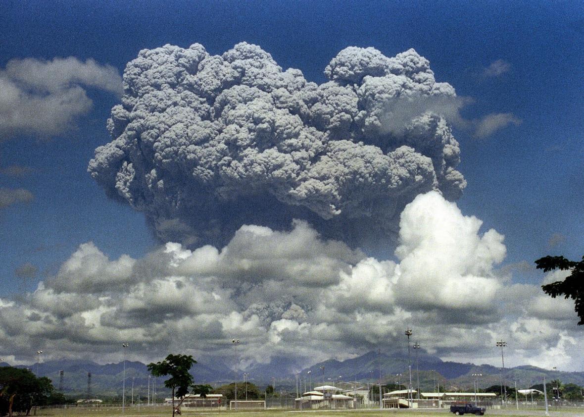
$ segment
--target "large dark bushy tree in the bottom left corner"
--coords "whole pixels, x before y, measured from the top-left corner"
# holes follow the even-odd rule
[[[27,369],[0,368],[0,416],[30,414],[33,406],[47,405],[54,392],[47,377],[37,378]]]

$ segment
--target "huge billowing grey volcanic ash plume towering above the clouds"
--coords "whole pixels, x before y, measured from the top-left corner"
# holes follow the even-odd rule
[[[107,123],[113,141],[88,170],[161,241],[190,247],[293,218],[351,245],[387,241],[416,195],[460,196],[446,121],[457,97],[425,58],[348,47],[325,75],[307,82],[248,43],[221,56],[200,44],[142,50]]]

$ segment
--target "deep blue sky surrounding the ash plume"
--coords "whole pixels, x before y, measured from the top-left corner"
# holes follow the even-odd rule
[[[387,57],[415,48],[437,81],[469,98],[461,109],[465,124],[453,126],[457,169],[468,182],[458,207],[484,222],[482,232],[505,235],[502,267],[533,265],[548,254],[582,255],[583,27],[584,8],[575,1],[6,1],[0,70],[15,58],[75,57],[122,74],[144,48],[200,43],[222,54],[247,41],[321,84],[328,62],[347,46],[374,47]],[[0,187],[34,195],[0,208],[3,297],[22,293],[19,267],[39,269],[27,282],[33,291],[85,242],[110,259],[142,258],[157,248],[144,215],[107,199],[87,172],[95,148],[111,140],[106,120],[119,97],[85,89],[93,105],[71,128],[17,129],[0,140]],[[512,113],[517,123],[476,137],[472,126],[492,113]],[[10,175],[13,166],[26,172]],[[380,244],[369,254],[387,258],[392,251]],[[526,266],[512,273],[512,282],[536,285],[543,276]]]

